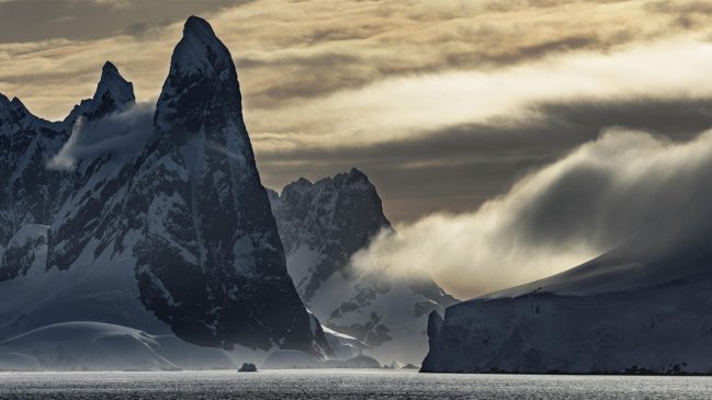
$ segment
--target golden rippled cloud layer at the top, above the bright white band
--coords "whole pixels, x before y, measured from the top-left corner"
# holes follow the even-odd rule
[[[70,7],[72,1],[42,10],[26,2],[0,8],[0,54],[11,56],[0,71],[0,91],[12,91],[45,117],[60,118],[70,108],[67,99],[84,98],[90,89],[83,82],[106,59],[136,71],[138,95],[156,96],[190,13],[206,16],[233,50],[248,115],[275,115],[290,103],[384,79],[493,70],[573,50],[612,52],[680,34],[704,36],[712,26],[712,15],[701,15],[694,28],[670,27],[676,16],[645,1],[212,0],[173,1],[170,8],[132,2],[111,19],[104,5]],[[53,22],[58,16],[72,21]],[[104,23],[97,25],[97,19]],[[35,50],[7,43],[50,37],[70,43]],[[292,130],[298,128],[295,122]]]

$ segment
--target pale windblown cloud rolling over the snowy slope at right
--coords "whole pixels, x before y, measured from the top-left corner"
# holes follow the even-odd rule
[[[670,221],[681,238],[692,235],[711,217],[711,179],[712,132],[679,144],[611,128],[474,213],[380,233],[352,263],[397,277],[426,271],[455,296],[483,295],[565,271]],[[678,221],[681,213],[688,217]]]

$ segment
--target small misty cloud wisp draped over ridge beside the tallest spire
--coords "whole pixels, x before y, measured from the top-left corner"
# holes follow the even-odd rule
[[[72,170],[82,160],[139,152],[154,133],[154,104],[143,103],[100,119],[79,117],[71,136],[47,167]]]

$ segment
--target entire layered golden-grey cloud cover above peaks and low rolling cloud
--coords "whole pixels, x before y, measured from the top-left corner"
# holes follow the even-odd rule
[[[676,114],[666,121],[687,124],[677,105],[712,98],[703,1],[135,2],[111,19],[105,5],[71,4],[0,7],[0,92],[61,119],[93,93],[110,59],[137,98],[155,98],[185,16],[197,13],[236,60],[264,182],[278,187],[355,165],[376,182],[392,219],[474,208],[601,128],[591,121],[566,130],[568,116],[557,113],[590,107],[561,105],[667,102]],[[679,24],[681,16],[693,24]],[[624,59],[646,50],[657,56]],[[676,75],[689,79],[674,82]],[[481,88],[489,77],[505,84]],[[602,89],[576,90],[587,81]],[[614,107],[606,112],[595,114],[618,123]]]

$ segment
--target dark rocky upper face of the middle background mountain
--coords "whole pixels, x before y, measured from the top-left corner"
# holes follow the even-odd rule
[[[300,179],[280,195],[272,193],[272,207],[286,253],[318,253],[313,263],[290,268],[307,304],[331,275],[351,274],[350,256],[381,229],[391,229],[375,186],[357,169],[315,184]]]

